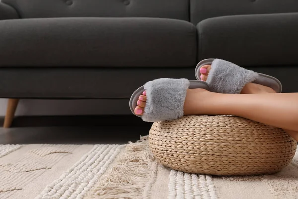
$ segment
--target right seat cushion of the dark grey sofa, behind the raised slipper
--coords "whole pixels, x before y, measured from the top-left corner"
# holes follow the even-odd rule
[[[298,13],[210,18],[198,25],[198,59],[241,66],[298,64]]]

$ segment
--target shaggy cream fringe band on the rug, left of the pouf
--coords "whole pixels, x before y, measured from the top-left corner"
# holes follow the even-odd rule
[[[93,189],[93,196],[101,199],[138,199],[150,181],[154,161],[148,145],[148,136],[136,143],[129,142],[125,152],[112,167],[109,175]]]

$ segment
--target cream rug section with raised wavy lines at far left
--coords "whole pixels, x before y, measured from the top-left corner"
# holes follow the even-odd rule
[[[65,153],[60,153],[61,148],[64,148],[70,154],[80,145],[6,146],[10,147],[10,149],[6,147],[6,155],[0,159],[0,176],[1,181],[4,182],[0,186],[1,199],[23,198],[22,194],[26,192],[25,187],[27,185],[34,184],[36,179],[65,157]],[[51,149],[52,153],[41,156],[40,154],[43,154],[42,151],[45,148]],[[40,151],[41,153],[34,154],[30,152],[31,150]],[[8,151],[15,152],[10,155],[7,154]]]

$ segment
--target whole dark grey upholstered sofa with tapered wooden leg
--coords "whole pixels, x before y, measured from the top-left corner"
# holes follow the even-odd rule
[[[13,99],[128,101],[149,80],[194,79],[205,58],[273,75],[297,92],[297,52],[297,0],[2,0],[5,126]]]

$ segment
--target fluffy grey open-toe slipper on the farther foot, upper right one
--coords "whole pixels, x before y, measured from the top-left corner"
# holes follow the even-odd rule
[[[249,82],[271,87],[277,93],[282,92],[282,84],[275,77],[256,73],[221,59],[205,59],[199,62],[195,69],[198,80],[201,80],[200,68],[204,65],[211,65],[206,83],[212,92],[240,93]]]

